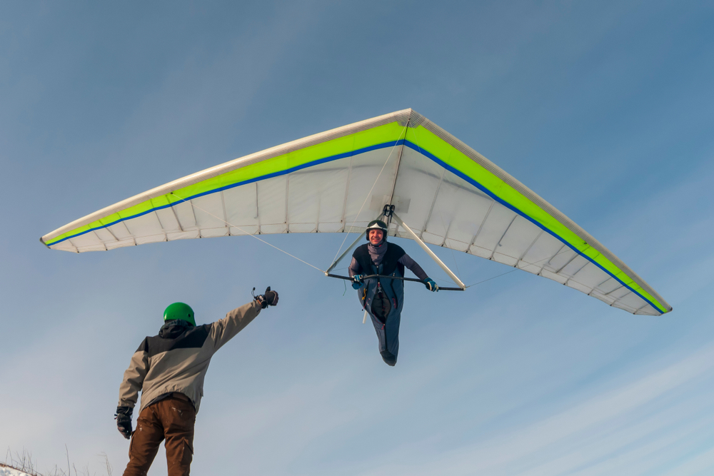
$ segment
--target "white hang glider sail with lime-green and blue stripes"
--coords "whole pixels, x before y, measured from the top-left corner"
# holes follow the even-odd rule
[[[186,238],[362,233],[387,205],[399,218],[391,236],[498,261],[630,313],[672,310],[563,213],[411,109],[179,178],[41,242],[82,253]]]

